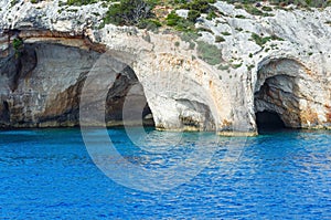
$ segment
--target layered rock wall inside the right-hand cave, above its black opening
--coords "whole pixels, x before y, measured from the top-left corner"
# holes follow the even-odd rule
[[[254,93],[257,124],[261,113],[276,114],[289,128],[323,125],[323,87],[311,71],[292,57],[267,57],[258,65]],[[269,116],[270,119],[273,119]],[[275,118],[274,118],[275,119]]]

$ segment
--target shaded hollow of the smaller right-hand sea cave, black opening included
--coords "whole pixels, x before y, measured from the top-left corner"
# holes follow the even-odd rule
[[[302,66],[295,60],[266,60],[257,72],[254,111],[258,133],[301,127]]]

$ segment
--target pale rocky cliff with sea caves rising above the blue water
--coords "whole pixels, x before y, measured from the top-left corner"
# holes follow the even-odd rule
[[[190,36],[99,28],[103,3],[61,2],[0,2],[1,127],[78,125],[82,90],[95,70],[109,84],[109,126],[122,123],[130,97],[131,113],[159,129],[252,135],[263,112],[287,127],[331,127],[331,8],[265,17],[218,1],[221,15],[201,17],[199,35]]]

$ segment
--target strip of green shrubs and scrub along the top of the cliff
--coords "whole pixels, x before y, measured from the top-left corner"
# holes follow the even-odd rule
[[[12,0],[14,3],[17,0]],[[30,0],[38,3],[44,0]],[[263,6],[258,0],[223,0],[232,3],[236,9],[244,9],[253,15],[274,15],[273,9],[289,10],[288,6],[303,9],[325,8],[331,6],[331,0],[269,0],[268,6]],[[142,29],[157,29],[161,25],[172,27],[178,31],[194,31],[194,23],[202,15],[211,20],[222,15],[212,4],[216,0],[67,0],[60,3],[67,6],[85,6],[103,2],[108,7],[103,28],[107,23],[116,25],[136,25]],[[264,1],[266,2],[266,1]],[[177,10],[186,10],[185,17],[179,15]],[[245,19],[244,15],[237,15]]]

